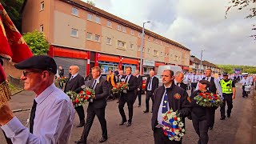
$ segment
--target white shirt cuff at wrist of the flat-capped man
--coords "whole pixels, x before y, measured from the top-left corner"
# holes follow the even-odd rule
[[[18,120],[17,117],[12,118],[6,125],[1,126],[2,130],[6,133],[6,137],[14,137],[20,130],[24,128],[22,123]]]

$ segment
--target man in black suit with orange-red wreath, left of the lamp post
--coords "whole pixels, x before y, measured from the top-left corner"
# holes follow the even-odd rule
[[[133,118],[133,113],[134,113],[134,95],[135,95],[135,90],[137,89],[137,84],[136,84],[137,79],[131,74],[130,66],[126,67],[126,78],[124,82],[128,83],[129,85],[128,85],[128,90],[123,90],[119,98],[118,109],[122,116],[122,122],[119,125],[121,126],[125,122],[127,122],[125,110],[123,110],[123,107],[127,102],[127,106],[129,110],[129,120],[128,120],[127,126],[130,126]]]

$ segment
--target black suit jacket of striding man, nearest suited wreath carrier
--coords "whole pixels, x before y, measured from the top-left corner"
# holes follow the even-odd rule
[[[93,85],[93,82],[94,79],[91,80],[90,87]],[[109,95],[109,86],[105,78],[102,78],[102,76],[99,78],[99,82],[97,82],[94,91],[96,98],[93,102],[89,103],[89,106],[93,106],[97,109],[106,107],[106,98]]]

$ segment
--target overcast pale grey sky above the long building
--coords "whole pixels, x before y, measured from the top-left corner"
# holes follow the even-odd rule
[[[86,0],[84,0],[86,2]],[[215,64],[256,66],[256,41],[246,10],[230,10],[228,0],[93,0],[102,10],[189,48],[190,54]],[[256,7],[256,6],[254,6]],[[255,31],[256,33],[256,31]]]

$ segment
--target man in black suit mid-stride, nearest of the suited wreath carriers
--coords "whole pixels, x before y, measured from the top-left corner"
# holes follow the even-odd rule
[[[92,68],[93,80],[90,82],[90,88],[95,91],[95,99],[93,102],[89,103],[87,108],[87,118],[86,125],[82,131],[82,136],[76,143],[86,143],[90,128],[93,125],[95,115],[98,117],[98,121],[102,126],[102,138],[99,142],[105,142],[107,140],[107,130],[106,130],[106,98],[109,94],[109,86],[106,79],[101,76],[101,69],[96,66]]]

